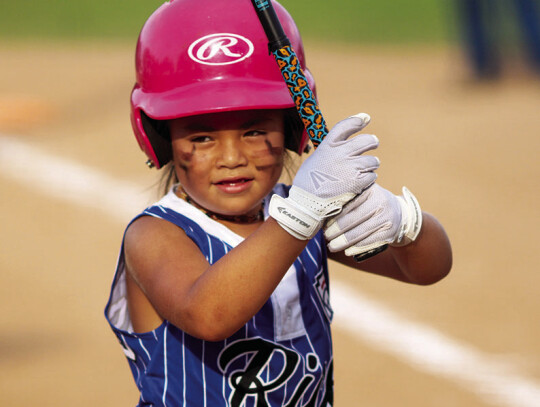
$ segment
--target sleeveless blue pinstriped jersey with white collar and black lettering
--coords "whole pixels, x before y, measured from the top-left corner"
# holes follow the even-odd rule
[[[286,196],[287,188],[278,184],[273,192]],[[182,228],[210,264],[243,240],[172,191],[139,216]],[[105,315],[140,390],[139,406],[327,407],[333,402],[328,293],[326,250],[319,233],[262,309],[230,338],[204,341],[168,321],[151,332],[135,333],[122,245]]]

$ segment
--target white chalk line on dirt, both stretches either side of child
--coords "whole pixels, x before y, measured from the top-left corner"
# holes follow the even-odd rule
[[[36,192],[100,210],[123,222],[148,203],[148,191],[140,185],[46,153],[15,137],[0,135],[0,174]],[[331,287],[336,328],[419,371],[450,380],[488,404],[540,406],[540,384],[517,366],[406,320],[339,281],[334,280]]]

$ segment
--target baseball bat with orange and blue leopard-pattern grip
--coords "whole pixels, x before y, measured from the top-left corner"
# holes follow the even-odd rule
[[[268,51],[278,64],[281,76],[289,88],[289,93],[313,147],[317,148],[328,134],[328,127],[319,109],[315,94],[309,87],[308,80],[300,66],[300,61],[281,26],[271,0],[251,0],[251,3],[268,38]],[[387,247],[388,245],[383,245],[357,254],[354,258],[356,261],[362,261],[384,251]]]

